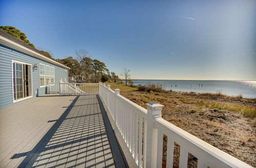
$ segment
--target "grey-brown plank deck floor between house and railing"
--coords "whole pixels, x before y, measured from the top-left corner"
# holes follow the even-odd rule
[[[125,167],[98,95],[32,98],[0,109],[0,167]]]

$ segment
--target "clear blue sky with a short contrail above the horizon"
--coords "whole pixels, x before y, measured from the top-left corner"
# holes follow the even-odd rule
[[[135,79],[256,80],[256,1],[0,1],[0,25],[54,58]]]

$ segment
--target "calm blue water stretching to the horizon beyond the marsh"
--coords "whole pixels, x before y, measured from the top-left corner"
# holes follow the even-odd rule
[[[245,98],[256,98],[256,81],[231,81],[231,80],[133,80],[134,85],[147,83],[162,85],[165,90],[217,93],[222,92],[229,96],[242,94]]]

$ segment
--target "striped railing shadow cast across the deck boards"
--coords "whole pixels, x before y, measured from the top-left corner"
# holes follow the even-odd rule
[[[49,121],[55,123],[47,133],[41,137],[40,141],[33,149],[12,156],[11,159],[25,157],[24,160],[17,165],[18,167],[61,166],[69,163],[72,163],[72,166],[85,166],[86,162],[92,163],[89,164],[88,167],[97,166],[98,164],[104,164],[107,167],[115,165],[114,161],[109,161],[113,160],[110,146],[104,145],[108,144],[106,131],[97,131],[97,133],[95,133],[95,129],[102,127],[102,123],[104,123],[103,121],[99,121],[99,118],[96,119],[96,115],[99,113],[82,111],[81,114],[77,115],[77,111],[72,110],[79,97],[80,96],[76,96],[58,120]],[[79,124],[81,119],[84,120],[83,124]],[[87,132],[84,132],[85,126],[87,127]],[[105,137],[104,139],[102,138],[103,136]],[[102,141],[96,142],[97,137],[101,138]],[[74,144],[75,146],[73,146]],[[97,147],[97,145],[101,146]],[[103,152],[102,150],[108,152]],[[95,161],[97,158],[102,157],[105,159],[98,159],[98,162]],[[109,164],[107,164],[108,161]]]

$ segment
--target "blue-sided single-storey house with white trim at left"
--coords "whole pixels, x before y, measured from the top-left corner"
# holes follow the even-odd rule
[[[0,30],[0,108],[47,93],[69,67]]]

